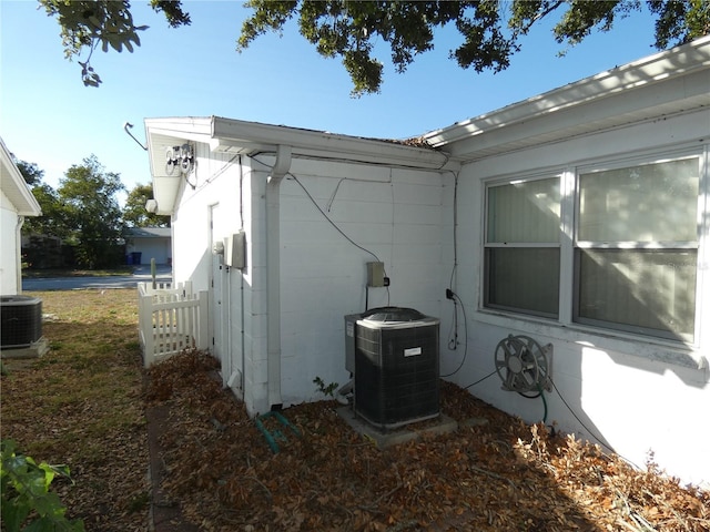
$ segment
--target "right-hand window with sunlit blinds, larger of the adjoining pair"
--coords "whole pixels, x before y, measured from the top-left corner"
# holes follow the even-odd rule
[[[692,339],[698,157],[579,175],[575,321]]]

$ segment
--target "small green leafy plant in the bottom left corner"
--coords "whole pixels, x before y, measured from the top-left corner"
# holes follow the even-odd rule
[[[37,462],[18,453],[12,440],[0,442],[0,504],[7,532],[83,532],[81,520],[64,516],[67,508],[59,495],[49,491],[55,475],[69,478],[67,466]]]

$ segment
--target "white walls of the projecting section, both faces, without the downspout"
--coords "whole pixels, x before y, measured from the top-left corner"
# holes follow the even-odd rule
[[[174,278],[191,279],[195,289],[212,289],[220,298],[212,301],[213,350],[219,351],[215,355],[223,360],[223,369],[230,367],[229,372],[237,374],[232,382],[223,375],[225,383],[256,413],[271,407],[265,192],[273,157],[258,156],[258,162],[227,157],[210,153],[203,144],[197,144],[196,152],[197,171],[189,178],[195,190],[183,187],[173,216]],[[318,212],[298,183],[364,249]],[[326,383],[348,380],[344,316],[364,311],[366,304],[369,308],[388,304],[417,308],[442,317],[442,328],[446,327],[448,319],[439,316],[439,301],[443,283],[450,275],[453,175],[295,160],[281,184],[280,204],[284,406],[320,398],[315,377]],[[213,241],[239,231],[244,219],[247,258],[243,273],[212,266],[213,242],[207,235],[210,213],[215,212]],[[376,260],[371,253],[385,263],[392,285],[389,289],[369,288],[366,295],[366,263]],[[217,288],[212,287],[213,282]]]

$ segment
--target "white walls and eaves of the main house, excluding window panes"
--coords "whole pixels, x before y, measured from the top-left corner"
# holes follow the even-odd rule
[[[670,474],[710,483],[709,42],[423,137],[444,153],[217,117],[151,121],[159,208],[174,207],[174,280],[211,290],[213,352],[225,385],[250,413],[273,407],[274,397],[283,406],[317,399],[316,377],[326,385],[349,378],[345,315],[413,307],[440,318],[442,374],[473,395],[530,422],[547,412],[548,424],[598,439],[636,464],[643,466],[650,451]],[[161,146],[173,141],[195,144],[195,172],[187,180],[161,170]],[[572,323],[569,253],[561,260],[559,319],[483,308],[488,182],[550,172],[571,180],[591,164],[633,165],[683,153],[704,161],[692,345]],[[267,185],[276,161],[278,171],[288,168]],[[570,227],[571,217],[565,212],[562,226]],[[275,218],[274,249],[267,223]],[[212,247],[240,229],[246,267],[227,270]],[[571,250],[569,232],[560,246]],[[267,254],[278,257],[277,282]],[[366,263],[373,260],[384,262],[388,289],[366,288]],[[275,285],[277,297],[270,291]],[[445,297],[449,287],[456,304]],[[460,344],[449,350],[456,313]],[[547,402],[503,391],[491,375],[496,346],[510,334],[552,345],[555,388],[545,393]]]

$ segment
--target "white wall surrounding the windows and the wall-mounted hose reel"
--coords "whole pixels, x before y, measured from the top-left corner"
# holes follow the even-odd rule
[[[495,369],[494,351],[507,335],[527,335],[551,344],[551,376],[556,389],[526,399],[504,391],[494,375],[470,388],[485,401],[527,421],[539,421],[600,440],[619,454],[643,466],[648,453],[668,473],[684,481],[710,482],[707,441],[710,424],[710,278],[699,273],[700,338],[693,345],[653,340],[576,324],[517,317],[481,309],[483,227],[486,180],[529,175],[538,171],[572,170],[597,161],[661,155],[674,150],[698,151],[706,160],[701,187],[708,187],[707,132],[710,112],[669,116],[585,137],[570,139],[466,165],[458,190],[457,293],[469,318],[468,360],[452,378],[468,386]],[[703,140],[704,139],[704,140]],[[463,206],[466,208],[463,208]],[[707,270],[710,233],[707,205],[699,219],[699,272]],[[662,213],[659,213],[662,216]],[[706,266],[703,266],[706,265]],[[565,288],[562,287],[562,290]],[[571,286],[562,297],[571,300]]]

